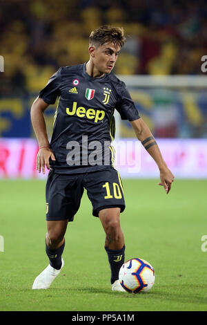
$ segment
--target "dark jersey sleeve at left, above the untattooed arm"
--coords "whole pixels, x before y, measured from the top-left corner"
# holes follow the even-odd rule
[[[39,92],[39,97],[47,104],[55,104],[57,97],[60,95],[59,87],[61,83],[61,68],[50,77],[50,80]]]

